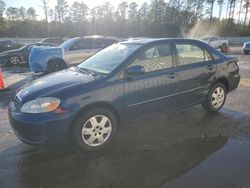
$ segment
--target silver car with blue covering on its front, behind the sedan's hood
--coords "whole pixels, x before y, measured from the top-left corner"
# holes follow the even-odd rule
[[[55,48],[33,48],[29,65],[33,72],[54,72],[77,65],[99,50],[120,40],[108,36],[86,36],[71,38]]]

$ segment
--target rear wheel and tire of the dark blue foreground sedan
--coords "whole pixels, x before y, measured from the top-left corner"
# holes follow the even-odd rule
[[[216,97],[216,98],[215,98]],[[227,90],[224,84],[215,83],[209,90],[202,107],[208,112],[218,112],[225,104]]]

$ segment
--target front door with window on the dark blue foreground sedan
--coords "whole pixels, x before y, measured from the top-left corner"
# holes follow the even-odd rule
[[[129,119],[166,111],[178,105],[179,73],[170,43],[144,49],[129,65],[144,66],[140,76],[124,78],[124,99]]]

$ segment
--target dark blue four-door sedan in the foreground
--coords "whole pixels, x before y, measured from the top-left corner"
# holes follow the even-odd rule
[[[219,111],[239,84],[237,63],[191,39],[113,44],[22,87],[10,102],[9,120],[25,143],[70,136],[80,148],[98,150],[130,121],[197,104]]]

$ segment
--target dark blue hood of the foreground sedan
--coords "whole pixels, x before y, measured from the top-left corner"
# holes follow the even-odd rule
[[[19,100],[24,103],[38,97],[47,96],[50,93],[70,86],[89,83],[100,78],[101,76],[99,75],[94,75],[87,71],[80,71],[79,68],[72,67],[43,76],[24,85],[17,93],[17,96]]]

